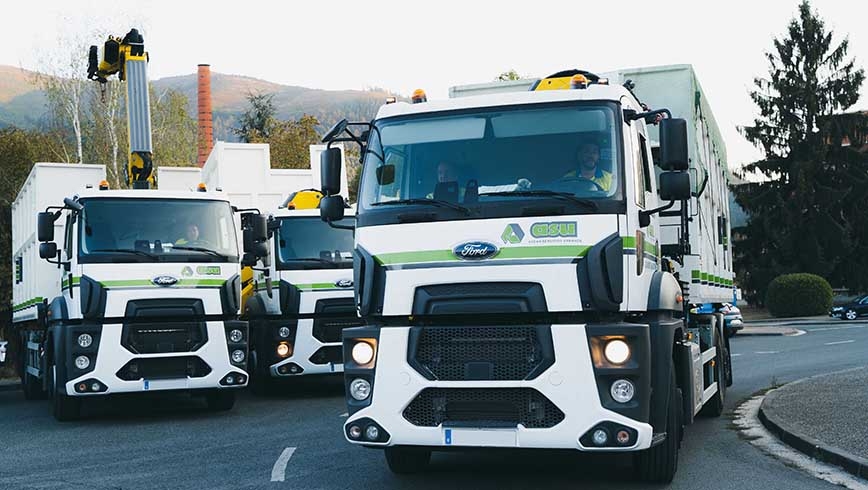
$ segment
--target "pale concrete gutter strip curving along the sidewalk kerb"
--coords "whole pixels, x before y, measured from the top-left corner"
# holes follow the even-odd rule
[[[736,417],[733,423],[751,444],[784,463],[789,463],[800,468],[815,478],[845,488],[861,490],[868,488],[864,480],[846,473],[837,466],[831,466],[812,459],[780,442],[777,437],[766,430],[757,416],[763,398],[765,398],[763,395],[755,396],[735,409]]]

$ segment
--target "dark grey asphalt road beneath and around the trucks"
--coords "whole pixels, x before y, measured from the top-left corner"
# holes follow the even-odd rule
[[[800,328],[807,333],[732,339],[727,414],[688,427],[669,488],[835,488],[766,456],[730,426],[729,412],[759,390],[868,364],[868,325]],[[286,388],[266,398],[243,393],[220,414],[182,395],[102,400],[73,423],[56,422],[47,402],[0,392],[0,488],[655,488],[631,481],[627,457],[573,451],[441,453],[427,473],[398,477],[380,451],[343,440],[338,379]]]

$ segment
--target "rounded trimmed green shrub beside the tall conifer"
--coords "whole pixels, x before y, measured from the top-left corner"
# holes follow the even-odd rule
[[[766,307],[777,317],[824,315],[832,307],[832,286],[815,274],[783,274],[769,284]]]

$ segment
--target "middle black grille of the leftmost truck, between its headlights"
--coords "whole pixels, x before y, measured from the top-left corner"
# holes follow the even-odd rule
[[[133,354],[193,352],[207,341],[204,322],[130,323],[121,334],[121,345]]]

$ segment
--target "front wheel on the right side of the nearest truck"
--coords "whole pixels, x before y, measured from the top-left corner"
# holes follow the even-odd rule
[[[669,388],[669,409],[666,415],[666,437],[656,446],[633,455],[633,470],[636,478],[648,483],[670,483],[678,470],[678,448],[683,436],[681,390],[675,382],[675,365],[672,364]]]

